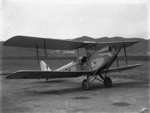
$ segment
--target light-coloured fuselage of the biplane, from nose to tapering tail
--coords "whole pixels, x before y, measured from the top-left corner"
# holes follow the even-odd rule
[[[55,71],[95,71],[109,68],[117,57],[118,52],[98,50],[89,57],[72,61]],[[84,59],[84,60],[83,60]]]

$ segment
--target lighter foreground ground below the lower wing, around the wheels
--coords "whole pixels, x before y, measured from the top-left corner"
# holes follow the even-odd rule
[[[106,89],[95,83],[81,89],[81,79],[5,80],[3,113],[138,113],[148,108],[148,84],[130,79],[113,79]]]

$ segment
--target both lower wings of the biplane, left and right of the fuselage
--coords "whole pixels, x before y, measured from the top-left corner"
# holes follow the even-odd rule
[[[103,70],[101,73],[110,73],[110,72],[116,72],[116,71],[125,71],[129,70],[138,66],[141,66],[142,64],[134,64],[134,65],[128,65],[123,67],[116,67],[116,68],[110,68],[108,70]],[[32,70],[26,70],[26,71],[18,71],[11,75],[8,75],[6,79],[52,79],[52,78],[74,78],[74,77],[80,77],[83,75],[90,74],[92,75],[93,71],[88,72],[61,72],[61,71],[32,71]]]

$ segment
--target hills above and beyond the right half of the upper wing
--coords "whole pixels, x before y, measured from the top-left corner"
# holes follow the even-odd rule
[[[138,40],[139,43],[133,45],[132,47],[127,48],[128,55],[146,56],[147,52],[150,51],[150,48],[149,48],[150,40],[146,40],[143,38],[101,37],[101,38],[95,39],[95,38],[91,38],[88,36],[83,36],[83,37],[78,37],[74,40],[75,41],[85,41],[86,40],[86,41],[95,41],[95,42]]]

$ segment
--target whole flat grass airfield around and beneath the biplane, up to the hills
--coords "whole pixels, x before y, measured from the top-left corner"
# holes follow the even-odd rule
[[[56,69],[70,60],[46,60]],[[1,64],[2,113],[139,113],[149,109],[148,61],[129,61],[143,66],[124,72],[110,73],[112,88],[94,82],[83,91],[82,80],[73,79],[7,80],[7,73],[23,69],[39,69],[36,60],[3,59]],[[114,62],[114,65],[116,62]],[[124,65],[121,61],[120,65]],[[6,74],[6,75],[4,75]],[[149,111],[146,111],[147,113]],[[146,113],[145,112],[145,113]]]

